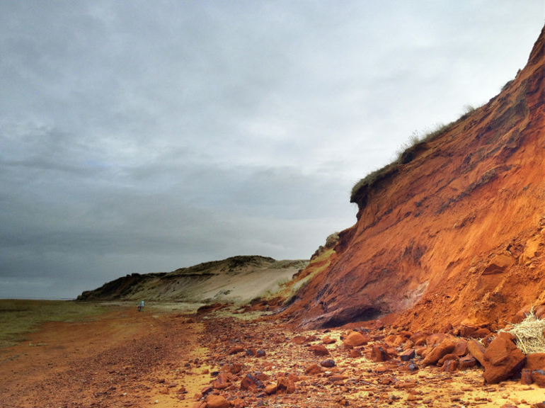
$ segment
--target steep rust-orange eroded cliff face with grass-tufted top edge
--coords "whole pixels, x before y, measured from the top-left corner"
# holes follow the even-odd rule
[[[495,329],[545,305],[544,47],[545,28],[498,96],[357,192],[357,223],[286,310],[293,322]]]

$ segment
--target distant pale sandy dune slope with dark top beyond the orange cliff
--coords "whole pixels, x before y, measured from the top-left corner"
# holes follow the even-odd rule
[[[265,256],[233,256],[170,273],[133,273],[86,291],[78,300],[244,303],[275,293],[307,263],[276,261]]]

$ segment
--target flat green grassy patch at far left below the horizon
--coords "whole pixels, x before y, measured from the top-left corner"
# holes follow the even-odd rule
[[[0,299],[0,348],[25,341],[25,334],[37,331],[42,323],[76,322],[107,311],[100,303]]]

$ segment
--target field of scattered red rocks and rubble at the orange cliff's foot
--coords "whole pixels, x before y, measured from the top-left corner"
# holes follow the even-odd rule
[[[279,322],[231,318],[205,324],[207,333],[219,335],[202,339],[214,369],[210,385],[193,396],[194,408],[499,407],[498,399],[505,408],[545,407],[539,388],[545,388],[545,353],[524,355],[506,332],[464,327],[455,336],[353,327],[293,333]],[[517,399],[510,385],[539,390],[544,401]]]

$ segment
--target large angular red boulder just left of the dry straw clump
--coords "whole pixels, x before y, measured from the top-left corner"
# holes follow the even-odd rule
[[[484,353],[483,378],[488,384],[497,384],[520,372],[526,356],[515,346],[515,336],[502,331]]]

